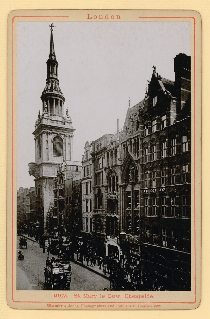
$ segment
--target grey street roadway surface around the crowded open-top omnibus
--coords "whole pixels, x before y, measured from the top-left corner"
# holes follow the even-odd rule
[[[17,252],[19,250],[17,236]],[[39,247],[39,243],[27,240],[27,249],[23,247],[24,259],[18,259],[17,253],[17,290],[45,290],[44,267],[46,266],[47,251]],[[51,255],[50,253],[50,258]],[[80,264],[72,262],[71,290],[103,290],[109,287],[109,280],[89,271]]]

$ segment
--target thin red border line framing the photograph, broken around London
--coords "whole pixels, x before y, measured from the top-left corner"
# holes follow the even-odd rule
[[[193,304],[196,302],[196,227],[195,227],[195,18],[194,17],[139,17],[139,18],[155,18],[155,19],[194,19],[194,249],[195,249],[195,301],[193,302],[109,302],[109,301],[100,301],[100,302],[92,302],[92,301],[15,301],[13,296],[13,68],[14,68],[14,60],[13,60],[13,48],[14,48],[14,19],[15,18],[69,18],[69,16],[14,16],[12,18],[12,301],[13,302],[26,302],[26,303],[128,303],[128,304],[136,304],[136,303],[152,303],[152,304],[164,304],[164,303],[181,303],[181,304]]]

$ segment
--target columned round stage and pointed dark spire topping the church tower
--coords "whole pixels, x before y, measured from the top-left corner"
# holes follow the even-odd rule
[[[43,101],[43,112],[45,110],[44,103],[47,105],[47,111],[51,116],[56,116],[57,120],[63,120],[64,117],[64,109],[63,103],[65,98],[61,89],[59,87],[59,80],[58,80],[58,62],[55,56],[55,49],[54,49],[54,42],[53,42],[53,23],[50,25],[51,27],[51,36],[50,36],[50,54],[47,60],[47,79],[46,79],[46,86],[44,91],[42,92],[41,99]]]

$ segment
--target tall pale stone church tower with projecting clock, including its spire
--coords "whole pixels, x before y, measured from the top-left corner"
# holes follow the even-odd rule
[[[35,139],[35,162],[29,163],[29,174],[35,177],[36,219],[40,230],[46,231],[46,216],[53,205],[53,178],[63,160],[73,160],[72,120],[66,108],[65,98],[58,80],[58,62],[53,42],[51,24],[50,54],[47,60],[46,86],[42,92],[42,114],[38,114],[33,132]]]

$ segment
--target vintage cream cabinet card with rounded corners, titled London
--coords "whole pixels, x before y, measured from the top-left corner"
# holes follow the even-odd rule
[[[7,302],[200,302],[196,11],[12,11]]]

